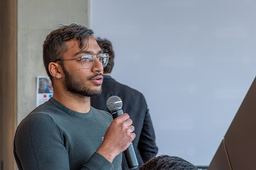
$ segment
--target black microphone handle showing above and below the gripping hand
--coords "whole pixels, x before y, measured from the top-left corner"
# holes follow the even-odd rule
[[[116,119],[118,116],[123,114],[123,111],[122,111],[122,109],[120,109],[120,110],[117,110],[117,111],[113,111],[111,113],[112,113],[113,119]],[[134,152],[134,147],[133,147],[132,143],[124,151],[124,154],[125,154],[125,159],[126,159],[128,168],[130,168],[131,170],[136,169],[139,166],[139,164],[138,164],[138,161],[137,161],[137,158],[136,158],[136,155],[135,155],[135,152]]]

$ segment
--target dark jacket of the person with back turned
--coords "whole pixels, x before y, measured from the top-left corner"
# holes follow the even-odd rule
[[[122,99],[122,110],[124,113],[128,113],[133,121],[132,125],[135,127],[134,133],[136,137],[132,143],[140,167],[156,156],[158,151],[145,98],[140,92],[122,85],[112,78],[105,78],[102,83],[102,94],[96,98],[91,97],[91,106],[110,113],[106,105],[110,96],[119,96]],[[139,170],[139,167],[136,170]],[[122,170],[129,170],[124,154]]]

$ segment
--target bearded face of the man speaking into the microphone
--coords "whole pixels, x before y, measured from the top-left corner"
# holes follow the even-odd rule
[[[96,40],[90,36],[89,43],[85,49],[79,48],[79,42],[72,40],[67,42],[68,51],[63,55],[63,59],[77,59],[84,54],[101,54],[102,50]],[[72,94],[83,96],[99,96],[102,91],[103,67],[98,59],[94,59],[91,68],[83,68],[81,60],[64,60],[62,68],[65,74],[63,86],[65,90]]]

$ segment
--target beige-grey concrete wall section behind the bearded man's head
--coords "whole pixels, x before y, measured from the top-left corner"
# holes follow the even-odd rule
[[[89,25],[88,0],[18,0],[17,122],[36,107],[36,77],[47,76],[43,43],[59,24]]]

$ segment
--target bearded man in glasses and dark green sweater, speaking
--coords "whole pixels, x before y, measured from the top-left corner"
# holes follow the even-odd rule
[[[93,31],[76,24],[46,37],[44,66],[53,96],[17,127],[14,156],[20,170],[121,170],[124,151],[135,138],[128,114],[90,107],[101,93],[108,54]]]

